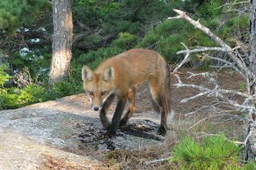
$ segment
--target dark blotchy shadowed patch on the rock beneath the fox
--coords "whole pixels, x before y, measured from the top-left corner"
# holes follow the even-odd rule
[[[87,128],[79,133],[80,147],[94,148],[94,150],[126,150],[135,149],[148,144],[156,144],[164,138],[156,131],[159,125],[149,120],[133,120],[125,127],[121,127],[116,135],[108,136],[107,131],[97,128]]]

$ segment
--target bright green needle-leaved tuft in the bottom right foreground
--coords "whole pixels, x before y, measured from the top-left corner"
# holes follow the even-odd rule
[[[177,162],[180,169],[240,169],[240,151],[224,135],[207,137],[201,144],[187,137],[174,147],[169,161]]]

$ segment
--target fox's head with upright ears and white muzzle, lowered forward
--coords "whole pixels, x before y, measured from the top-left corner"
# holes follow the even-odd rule
[[[84,90],[88,95],[91,108],[98,111],[102,104],[113,93],[113,67],[109,66],[102,73],[91,71],[88,66],[83,66],[82,79],[84,81]]]

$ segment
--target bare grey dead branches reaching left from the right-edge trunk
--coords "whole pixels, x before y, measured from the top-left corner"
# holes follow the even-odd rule
[[[215,88],[213,88],[213,89],[204,88],[204,87],[201,87],[201,86],[198,86],[198,85],[195,85],[195,84],[184,84],[179,79],[179,82],[177,84],[175,84],[175,86],[177,86],[177,88],[180,88],[180,87],[198,88],[200,91],[203,91],[200,94],[196,94],[195,96],[189,97],[187,99],[183,99],[182,102],[188,102],[191,99],[196,99],[198,97],[207,95],[207,96],[215,96],[217,98],[224,99],[224,101],[226,101],[230,105],[235,106],[236,108],[239,108],[239,110],[241,110],[241,111],[246,111],[246,110],[247,111],[255,111],[255,107],[253,105],[249,105],[249,101],[255,100],[255,96],[252,97],[252,96],[249,95],[249,87],[255,81],[255,77],[254,77],[253,73],[247,68],[243,59],[241,59],[241,57],[239,55],[237,55],[237,53],[234,53],[233,49],[230,48],[230,46],[228,46],[225,42],[223,42],[219,37],[214,35],[212,33],[212,31],[210,31],[207,27],[202,26],[198,20],[197,21],[192,20],[183,11],[180,11],[180,10],[177,10],[177,9],[174,9],[174,11],[177,12],[177,14],[179,14],[179,15],[177,17],[171,17],[171,18],[168,18],[168,19],[182,18],[184,20],[188,20],[189,23],[191,23],[196,28],[201,29],[201,31],[205,32],[209,37],[211,37],[215,42],[217,42],[222,47],[222,48],[196,48],[196,49],[190,50],[185,44],[183,44],[183,46],[186,49],[183,50],[183,51],[177,52],[177,54],[186,53],[186,55],[185,55],[183,61],[180,63],[180,65],[178,65],[177,68],[175,68],[174,72],[177,72],[177,70],[186,62],[186,60],[189,58],[189,54],[197,53],[197,52],[204,52],[204,51],[207,51],[207,50],[218,50],[218,51],[225,51],[227,54],[229,54],[230,59],[232,59],[233,62],[227,61],[225,59],[219,59],[217,57],[211,57],[211,56],[208,56],[208,55],[206,55],[206,56],[211,58],[211,59],[218,59],[220,62],[224,63],[225,65],[230,66],[235,71],[237,71],[239,74],[241,74],[241,76],[244,77],[246,82],[247,82],[247,94],[245,94],[245,93],[237,92],[236,90],[226,90],[226,89],[219,88],[218,83],[216,82],[216,80],[214,78],[212,78],[211,75],[207,75],[207,74],[201,75],[201,76],[207,77],[208,81],[212,82],[214,84]],[[193,75],[191,73],[190,77],[192,77],[192,76],[195,77],[195,76],[198,76],[198,75]],[[231,99],[228,99],[228,98],[224,97],[223,94],[237,94],[237,95],[240,95],[244,98],[247,98],[244,101],[244,104],[247,104],[247,105],[238,104],[236,101],[233,101]]]

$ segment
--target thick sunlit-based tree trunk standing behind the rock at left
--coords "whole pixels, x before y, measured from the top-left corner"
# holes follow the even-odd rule
[[[53,43],[49,83],[61,82],[68,77],[72,58],[73,19],[72,0],[52,0]]]

